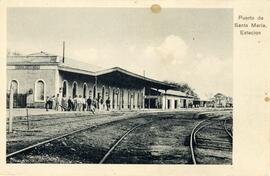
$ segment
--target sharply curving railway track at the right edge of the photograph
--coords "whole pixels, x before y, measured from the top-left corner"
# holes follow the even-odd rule
[[[192,129],[189,139],[189,146],[191,152],[191,159],[193,164],[197,164],[195,148],[206,148],[206,149],[214,149],[214,150],[231,150],[231,142],[232,142],[232,133],[230,133],[229,129],[227,128],[227,118],[223,119],[223,131],[226,132],[228,135],[230,142],[223,141],[223,140],[216,140],[216,139],[208,139],[208,138],[198,138],[197,134],[204,128],[209,127],[212,124],[216,124],[222,120],[218,118],[207,118],[200,122],[198,122],[195,127]],[[218,128],[214,127],[215,130]],[[219,129],[220,130],[220,129]]]

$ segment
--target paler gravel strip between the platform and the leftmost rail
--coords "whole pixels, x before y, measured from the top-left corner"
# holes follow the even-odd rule
[[[14,128],[17,130],[14,130],[13,133],[7,133],[7,153],[86,126],[95,126],[110,121],[133,118],[137,117],[137,115],[138,113],[86,114],[83,116],[74,116],[73,118],[70,118],[70,116],[55,118],[53,115],[50,115],[44,119],[36,117],[36,121],[33,120],[30,122],[30,130],[25,129],[25,122],[15,123]]]

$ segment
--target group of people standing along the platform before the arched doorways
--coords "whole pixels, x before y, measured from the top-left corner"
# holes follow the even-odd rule
[[[97,99],[92,99],[90,96],[88,98],[84,98],[81,95],[74,96],[72,98],[60,97],[59,94],[52,97],[46,97],[45,108],[46,111],[48,109],[55,109],[56,111],[92,111],[95,113],[95,109],[101,109],[104,101],[98,97]],[[105,101],[106,110],[110,109],[110,98],[108,97]]]

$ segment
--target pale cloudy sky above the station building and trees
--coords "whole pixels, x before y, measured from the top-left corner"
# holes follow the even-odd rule
[[[186,82],[200,97],[233,92],[232,9],[9,8],[7,45],[157,80]]]

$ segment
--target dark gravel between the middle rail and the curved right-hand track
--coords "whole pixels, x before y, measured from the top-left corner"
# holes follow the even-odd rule
[[[105,163],[190,164],[187,136],[194,123],[178,116],[155,121],[130,134]]]

